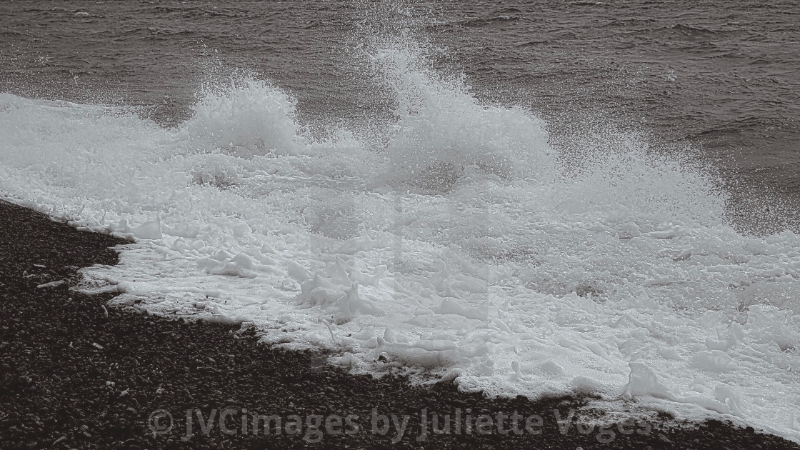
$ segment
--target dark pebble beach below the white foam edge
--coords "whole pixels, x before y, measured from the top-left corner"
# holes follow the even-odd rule
[[[458,392],[449,382],[411,387],[399,377],[350,376],[322,366],[320,356],[268,348],[238,327],[111,308],[106,315],[103,305],[111,295],[80,295],[70,286],[78,282],[78,267],[114,264],[117,255],[108,247],[122,243],[0,202],[0,449],[389,447],[397,430],[393,425],[383,434],[374,432],[373,408],[378,415],[410,416],[398,440],[402,447],[800,448],[719,421],[670,428],[632,418],[611,427],[612,435],[579,430],[582,420],[575,418],[562,432],[553,410],[563,419],[581,398],[489,400]],[[62,279],[66,283],[38,287]],[[169,431],[166,415],[151,420],[159,409],[174,417]],[[451,424],[449,435],[434,435],[429,422],[426,438],[418,440],[423,409],[429,420],[434,412],[460,411],[461,432]],[[187,410],[193,432],[188,440]],[[510,417],[501,417],[507,434],[500,434],[498,412],[518,412],[522,419],[510,430]],[[265,436],[262,422],[255,435],[254,413],[280,416],[280,431],[272,428]],[[468,413],[473,419],[490,415],[490,433],[473,428],[466,434]],[[229,432],[220,426],[221,415]],[[302,419],[296,435],[290,434],[297,420],[292,415]],[[353,417],[338,427],[335,416],[348,415]],[[541,416],[543,426],[535,426],[534,419],[530,430],[542,434],[526,430],[532,415]],[[207,435],[198,417],[210,418]],[[382,430],[384,423],[375,418]],[[438,419],[441,427],[444,418]],[[321,424],[323,434],[306,420]],[[332,433],[338,430],[342,434]]]

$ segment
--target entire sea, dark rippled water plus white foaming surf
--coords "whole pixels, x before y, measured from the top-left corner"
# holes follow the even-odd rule
[[[800,441],[798,4],[0,12],[0,192],[137,240],[81,289]]]

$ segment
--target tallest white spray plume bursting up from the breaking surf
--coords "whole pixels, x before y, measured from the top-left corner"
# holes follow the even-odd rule
[[[467,167],[501,179],[552,175],[540,120],[515,108],[478,105],[461,79],[428,70],[418,51],[396,43],[374,57],[398,102],[386,147],[395,177],[441,191]]]

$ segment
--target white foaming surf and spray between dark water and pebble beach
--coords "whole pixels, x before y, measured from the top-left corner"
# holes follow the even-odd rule
[[[2,94],[0,190],[136,236],[86,271],[115,303],[250,321],[356,371],[634,396],[798,440],[797,236],[739,235],[702,175],[635,136],[567,171],[538,119],[410,57],[378,55],[398,100],[379,151],[310,138],[252,79],[174,130]]]

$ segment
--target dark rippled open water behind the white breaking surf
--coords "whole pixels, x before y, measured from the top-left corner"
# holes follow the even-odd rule
[[[169,126],[202,82],[254,72],[301,118],[388,115],[359,52],[410,34],[562,151],[624,129],[713,162],[745,231],[800,228],[798,2],[0,2],[0,91],[142,106]],[[670,150],[672,149],[672,150]]]

